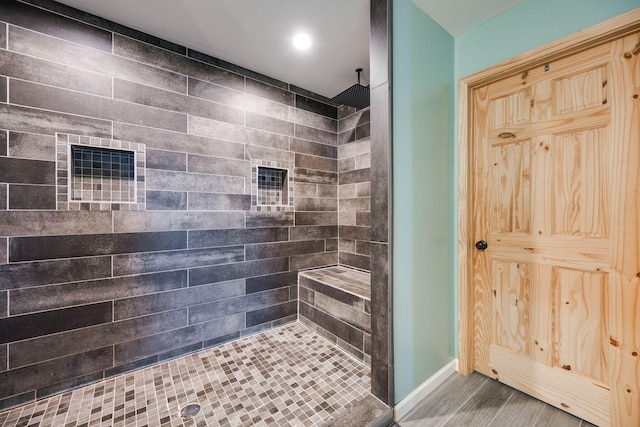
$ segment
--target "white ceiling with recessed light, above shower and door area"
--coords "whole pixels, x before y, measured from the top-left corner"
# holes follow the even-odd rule
[[[369,80],[369,0],[57,0],[331,98]],[[413,0],[452,35],[522,0]],[[313,38],[297,51],[296,31]]]

